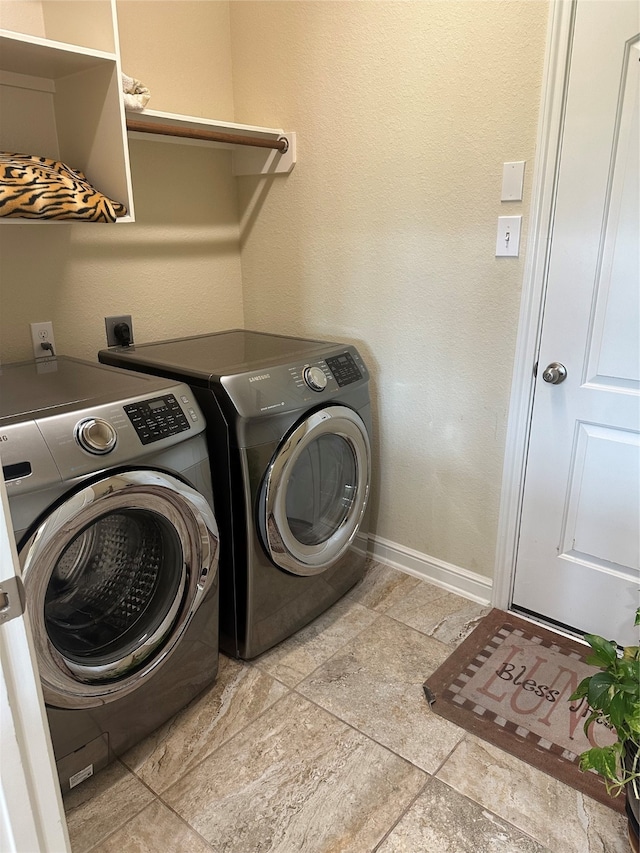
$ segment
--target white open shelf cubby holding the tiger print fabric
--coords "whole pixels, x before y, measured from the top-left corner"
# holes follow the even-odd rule
[[[2,0],[0,0],[2,2]],[[98,4],[104,11],[107,7]],[[109,6],[109,8],[111,8]],[[54,6],[47,7],[53,11]],[[104,43],[113,42],[107,33]],[[134,219],[119,58],[94,47],[0,30],[0,148],[79,169]],[[3,224],[51,224],[6,217]]]

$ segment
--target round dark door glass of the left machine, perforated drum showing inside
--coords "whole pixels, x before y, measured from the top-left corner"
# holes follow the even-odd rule
[[[78,678],[112,678],[122,661],[138,651],[140,664],[162,642],[185,585],[180,539],[163,516],[141,509],[103,515],[54,564],[47,634]]]

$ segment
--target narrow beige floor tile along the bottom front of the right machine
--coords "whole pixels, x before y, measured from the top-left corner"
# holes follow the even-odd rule
[[[375,619],[374,611],[343,598],[255,663],[274,678],[295,687]]]

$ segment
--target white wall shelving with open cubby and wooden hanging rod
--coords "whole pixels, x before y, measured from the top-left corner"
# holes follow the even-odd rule
[[[0,149],[80,169],[96,189],[126,206],[128,214],[118,222],[135,220],[130,139],[230,149],[234,175],[293,169],[296,135],[280,128],[158,110],[125,114],[115,2],[33,0],[28,6],[0,0],[5,25],[0,29]],[[38,8],[40,15],[27,14]],[[142,127],[128,131],[127,121]],[[0,222],[52,224],[12,217]]]

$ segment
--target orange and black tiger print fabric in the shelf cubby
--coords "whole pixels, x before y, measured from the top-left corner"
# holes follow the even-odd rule
[[[77,169],[48,157],[0,151],[0,216],[115,222],[126,213]]]

